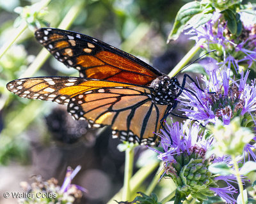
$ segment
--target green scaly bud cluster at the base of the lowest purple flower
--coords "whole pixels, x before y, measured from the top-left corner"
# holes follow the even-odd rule
[[[172,167],[170,176],[177,185],[177,199],[185,199],[189,194],[200,201],[207,200],[208,196],[214,196],[209,187],[218,187],[212,173],[208,170],[207,159],[196,158],[198,154],[175,156],[177,163],[169,164]]]

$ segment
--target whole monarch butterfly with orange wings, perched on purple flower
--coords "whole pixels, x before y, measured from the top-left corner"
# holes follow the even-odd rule
[[[76,120],[92,128],[111,126],[113,137],[154,145],[161,122],[184,89],[176,77],[100,40],[72,31],[41,28],[36,40],[80,77],[32,77],[9,82],[9,91],[23,98],[67,105]],[[189,77],[190,78],[190,77]]]

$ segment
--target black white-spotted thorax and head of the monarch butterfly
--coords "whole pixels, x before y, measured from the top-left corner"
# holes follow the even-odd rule
[[[153,103],[159,105],[172,105],[179,93],[179,82],[176,77],[168,77],[163,75],[157,77],[151,82],[149,87],[152,87],[154,91],[151,92]]]

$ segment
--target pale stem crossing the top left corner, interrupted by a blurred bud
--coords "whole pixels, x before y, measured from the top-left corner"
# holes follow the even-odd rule
[[[47,6],[50,3],[50,1],[51,0],[41,1],[40,4],[42,5],[39,6],[38,11],[45,8],[45,6]],[[19,38],[20,34],[22,34],[26,30],[27,27],[28,24],[26,21],[22,22],[22,24],[20,24],[19,27],[17,27],[13,35],[10,36],[10,40],[6,41],[6,43],[4,43],[3,47],[0,49],[0,59],[1,57],[3,57],[6,51],[12,46],[12,44],[17,40],[17,38]]]

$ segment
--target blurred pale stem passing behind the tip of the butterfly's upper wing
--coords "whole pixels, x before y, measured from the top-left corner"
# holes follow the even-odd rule
[[[68,11],[67,15],[63,18],[58,28],[60,29],[68,29],[70,25],[76,20],[77,15],[83,9],[83,1],[77,1],[78,3],[74,4]],[[31,77],[35,74],[38,69],[44,64],[44,62],[48,59],[50,53],[48,50],[43,48],[38,55],[36,55],[35,60],[30,64],[28,69],[20,76],[20,78]]]

